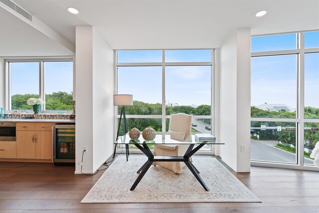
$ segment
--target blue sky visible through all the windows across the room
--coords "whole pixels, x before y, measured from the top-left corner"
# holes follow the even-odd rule
[[[252,37],[252,52],[296,49],[296,34]],[[319,31],[305,33],[305,48],[319,47]],[[118,62],[161,62],[161,50],[118,51]],[[165,50],[166,62],[211,61],[211,50]],[[297,57],[278,55],[252,57],[251,105],[286,104],[297,108]],[[38,94],[38,62],[11,63],[11,93]],[[134,100],[161,103],[161,66],[119,67],[118,94],[133,94]],[[211,103],[210,66],[166,66],[166,104]],[[72,62],[45,62],[45,92],[70,93]],[[319,108],[319,53],[305,55],[305,106]]]

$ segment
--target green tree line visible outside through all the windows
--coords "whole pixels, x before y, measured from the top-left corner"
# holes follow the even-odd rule
[[[11,97],[11,109],[25,110],[32,109],[26,101],[29,98],[38,98],[37,94],[15,94]],[[73,95],[67,92],[53,92],[52,94],[45,94],[45,108],[46,110],[72,110]],[[161,115],[162,105],[160,103],[150,104],[143,101],[134,101],[133,106],[126,106],[127,115]],[[175,113],[186,113],[192,115],[210,115],[211,107],[209,105],[200,105],[196,108],[192,106],[165,106],[166,115]],[[119,114],[121,114],[121,107],[119,107]],[[255,106],[251,107],[252,118],[296,118],[296,112],[286,112],[282,109],[279,112],[271,112],[259,109]],[[305,118],[319,119],[319,108],[305,107]],[[201,121],[210,124],[210,119],[201,119]],[[157,132],[161,132],[160,118],[129,118],[127,119],[128,131],[133,127],[143,131],[148,126],[154,128]],[[166,120],[165,131],[168,130],[169,119]],[[281,127],[296,127],[295,122],[260,122],[252,121],[251,127],[266,126],[281,126]],[[317,127],[317,123],[305,123],[305,127]],[[124,134],[123,125],[120,127],[120,134]],[[296,146],[296,132],[286,132],[277,130],[258,130],[259,139],[261,140],[277,140],[287,144]],[[253,136],[253,134],[252,134]],[[313,149],[317,141],[319,141],[319,132],[305,130],[305,140],[309,144],[305,144],[306,148]]]

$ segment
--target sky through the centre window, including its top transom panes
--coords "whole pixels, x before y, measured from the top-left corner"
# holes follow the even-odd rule
[[[161,50],[119,51],[118,62],[161,62]],[[211,50],[166,50],[166,62],[209,62]],[[211,103],[211,66],[166,66],[165,100],[178,105]],[[118,67],[118,94],[134,100],[161,103],[162,67]]]

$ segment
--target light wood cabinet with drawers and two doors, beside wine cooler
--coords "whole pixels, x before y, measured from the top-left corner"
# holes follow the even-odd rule
[[[53,123],[17,123],[16,158],[52,159]]]

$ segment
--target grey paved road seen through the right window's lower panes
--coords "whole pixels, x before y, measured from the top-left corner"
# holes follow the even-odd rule
[[[250,144],[251,160],[296,163],[296,154],[273,147],[277,141],[250,140]],[[313,165],[314,162],[305,158],[305,164]]]

